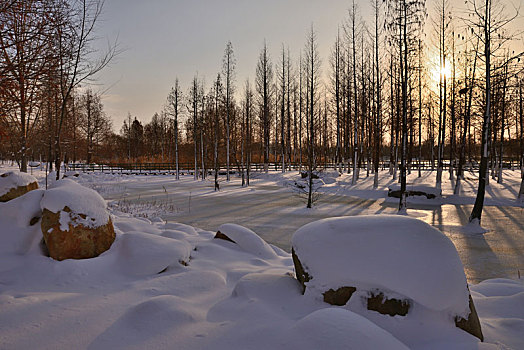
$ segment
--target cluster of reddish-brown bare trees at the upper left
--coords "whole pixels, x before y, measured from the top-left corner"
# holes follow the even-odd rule
[[[67,155],[84,144],[90,160],[110,132],[100,96],[81,88],[117,54],[116,45],[94,52],[101,11],[101,0],[0,3],[1,151],[21,171],[36,154],[55,162],[58,178]]]

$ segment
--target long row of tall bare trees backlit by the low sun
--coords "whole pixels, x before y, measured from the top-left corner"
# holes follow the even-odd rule
[[[228,180],[234,167],[243,185],[249,185],[252,163],[263,163],[268,171],[270,163],[278,162],[282,171],[307,171],[308,206],[319,166],[334,163],[339,171],[352,172],[353,184],[364,169],[366,176],[374,173],[376,188],[379,165],[387,162],[401,183],[401,211],[406,176],[414,167],[421,176],[422,162],[435,168],[440,186],[446,160],[457,193],[467,165],[478,163],[479,194],[471,221],[480,222],[488,171],[502,182],[505,157],[524,163],[522,53],[512,49],[518,35],[507,28],[516,18],[508,15],[514,9],[507,11],[494,0],[468,0],[466,9],[458,10],[447,0],[435,0],[429,17],[424,0],[373,0],[372,5],[373,20],[365,23],[352,2],[326,62],[312,26],[296,56],[282,45],[272,57],[264,42],[254,82],[239,82],[228,42],[222,69],[209,86],[195,76],[185,90],[177,80],[151,122],[142,125],[129,115],[120,135],[96,129],[93,135],[103,136],[93,136],[91,143],[84,132],[82,138],[68,137],[66,144],[85,140],[87,161],[94,160],[89,155],[98,147],[99,161],[174,162],[177,178],[179,164],[191,162],[195,177],[214,170],[217,189],[222,167]],[[78,125],[73,134],[80,130],[76,115],[86,114],[85,107],[74,111],[85,105],[75,101],[89,94],[96,100],[96,94],[78,91],[65,102],[64,125]],[[39,103],[64,101],[59,94],[39,96]],[[11,120],[24,124],[20,114]],[[42,125],[57,125],[52,120]],[[56,135],[54,130],[49,135]],[[23,159],[26,148],[20,145],[13,147]]]

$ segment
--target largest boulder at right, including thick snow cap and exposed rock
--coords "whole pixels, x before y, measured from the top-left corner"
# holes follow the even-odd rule
[[[451,316],[452,325],[483,339],[453,243],[420,220],[386,215],[316,221],[295,232],[292,256],[303,293],[328,304],[351,309],[356,298],[367,312],[401,318],[426,310],[429,318]]]

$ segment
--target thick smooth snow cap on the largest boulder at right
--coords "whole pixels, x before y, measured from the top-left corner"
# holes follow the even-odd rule
[[[435,311],[467,316],[468,290],[453,243],[402,216],[324,219],[300,228],[293,249],[311,276],[308,289],[344,286],[406,296]]]

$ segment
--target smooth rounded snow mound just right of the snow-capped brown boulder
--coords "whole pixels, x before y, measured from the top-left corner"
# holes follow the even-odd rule
[[[122,270],[134,276],[154,275],[169,266],[187,264],[191,253],[191,245],[185,241],[133,231],[122,234],[115,249]]]

